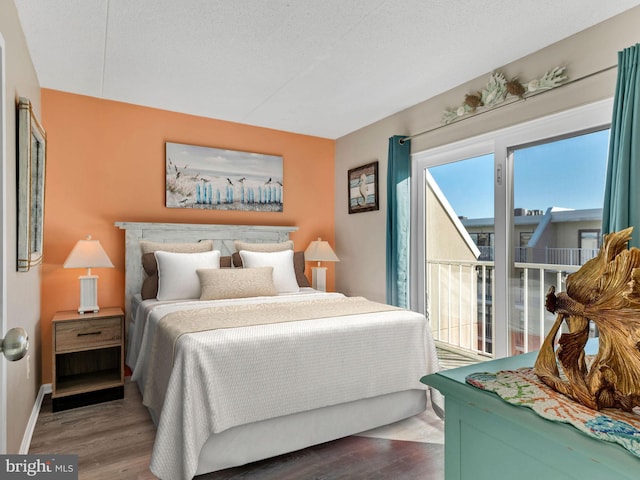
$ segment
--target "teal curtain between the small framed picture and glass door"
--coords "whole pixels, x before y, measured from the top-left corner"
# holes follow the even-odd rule
[[[387,162],[387,303],[409,307],[411,140],[389,139]]]

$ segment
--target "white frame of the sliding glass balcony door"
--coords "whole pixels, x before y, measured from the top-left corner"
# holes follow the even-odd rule
[[[494,356],[509,356],[509,272],[514,261],[513,232],[513,149],[545,139],[569,136],[611,123],[613,99],[551,114],[519,125],[464,139],[411,155],[411,270],[409,280],[412,310],[427,314],[425,302],[425,170],[436,165],[493,153],[494,156],[494,260],[493,299]]]

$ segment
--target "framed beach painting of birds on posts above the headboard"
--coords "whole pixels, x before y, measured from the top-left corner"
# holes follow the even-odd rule
[[[281,156],[166,142],[166,206],[282,212]]]

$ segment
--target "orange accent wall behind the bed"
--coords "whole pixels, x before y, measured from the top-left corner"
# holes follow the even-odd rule
[[[80,303],[75,269],[62,267],[91,234],[115,265],[95,269],[101,306],[124,307],[124,231],[116,221],[295,225],[296,250],[317,237],[334,242],[335,142],[126,103],[42,90],[47,132],[42,382],[51,382],[51,318]],[[280,213],[165,207],[165,142],[281,155],[286,197]],[[310,265],[307,265],[310,277]],[[334,288],[334,270],[327,287]]]

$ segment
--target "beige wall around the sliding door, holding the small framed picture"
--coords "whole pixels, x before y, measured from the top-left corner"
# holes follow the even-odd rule
[[[617,64],[618,51],[640,42],[640,7],[636,7],[573,35],[507,66],[496,65],[508,78],[522,81],[539,78],[556,66],[566,66],[569,79],[577,79]],[[407,61],[413,61],[408,59]],[[381,66],[384,68],[384,66]],[[336,290],[385,301],[386,175],[388,138],[412,135],[442,125],[445,108],[458,106],[465,94],[481,89],[490,72],[448,92],[415,105],[336,142],[335,243],[340,262],[336,264]],[[421,135],[412,142],[420,152],[464,138],[508,127],[551,113],[610,98],[615,91],[616,70],[552,90],[526,102],[454,123]],[[349,215],[347,171],[379,161],[380,210]]]

